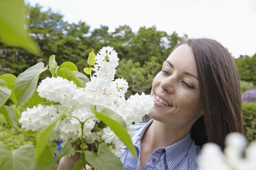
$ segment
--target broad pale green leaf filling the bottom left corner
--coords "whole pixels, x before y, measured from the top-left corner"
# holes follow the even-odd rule
[[[32,170],[34,154],[33,145],[23,145],[11,150],[0,143],[0,170]]]

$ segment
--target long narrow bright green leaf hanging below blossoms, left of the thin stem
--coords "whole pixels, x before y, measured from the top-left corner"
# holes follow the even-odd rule
[[[58,120],[63,119],[65,117],[66,110],[67,109],[65,109],[60,115],[60,117],[58,117],[54,122],[48,125],[45,128],[45,130],[43,130],[39,134],[39,138],[37,138],[36,140],[36,157],[34,158],[34,162],[36,162],[40,158],[41,154],[43,153],[43,150],[45,149],[45,146],[47,145],[47,142],[50,139],[54,126],[56,125]]]

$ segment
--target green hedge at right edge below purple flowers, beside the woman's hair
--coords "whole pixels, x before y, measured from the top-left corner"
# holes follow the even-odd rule
[[[249,142],[256,140],[256,102],[242,103],[244,130]]]

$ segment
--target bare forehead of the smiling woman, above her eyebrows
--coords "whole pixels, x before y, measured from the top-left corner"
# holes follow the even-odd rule
[[[177,47],[167,60],[173,64],[174,69],[198,75],[193,50],[187,44]],[[164,64],[167,64],[167,62],[164,62]]]

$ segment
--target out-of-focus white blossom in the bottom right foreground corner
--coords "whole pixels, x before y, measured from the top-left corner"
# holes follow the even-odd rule
[[[233,132],[226,136],[224,152],[214,143],[206,143],[198,156],[199,170],[256,169],[256,141],[246,147],[244,135]]]

